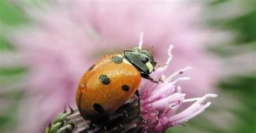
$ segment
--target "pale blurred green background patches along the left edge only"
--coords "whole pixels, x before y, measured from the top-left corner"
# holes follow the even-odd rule
[[[13,4],[8,1],[0,1],[0,52],[13,51],[16,52],[16,48],[4,38],[6,32],[5,26],[15,27],[20,24],[28,23],[28,20],[24,17],[24,14]],[[2,56],[2,54],[0,55]],[[2,57],[1,57],[2,60]],[[8,105],[0,103],[0,132],[4,132],[6,129],[13,127],[17,124],[17,108],[20,99],[23,98],[22,89],[14,89],[15,91],[3,92],[2,88],[5,85],[18,84],[23,82],[23,75],[25,74],[25,68],[0,68],[0,99],[4,99],[8,102]],[[12,82],[10,82],[12,80]]]

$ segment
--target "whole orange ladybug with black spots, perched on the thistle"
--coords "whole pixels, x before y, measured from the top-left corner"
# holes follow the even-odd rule
[[[160,81],[150,77],[156,63],[150,51],[136,47],[124,50],[123,54],[106,55],[93,64],[80,80],[76,92],[76,104],[82,117],[97,120],[107,116],[134,93],[140,101],[137,89],[142,77],[154,83]]]

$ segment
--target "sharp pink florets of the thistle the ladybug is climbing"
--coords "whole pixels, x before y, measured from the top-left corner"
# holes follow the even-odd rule
[[[206,98],[217,97],[216,94],[205,94],[201,98],[185,99],[186,94],[181,93],[181,87],[178,86],[176,88],[176,84],[181,80],[190,80],[190,77],[179,77],[179,75],[183,75],[184,71],[192,68],[187,67],[180,69],[169,77],[163,75],[172,60],[172,48],[173,46],[170,46],[168,51],[169,58],[164,67],[158,68],[151,75],[154,79],[161,78],[164,83],[155,84],[149,80],[144,80],[139,90],[142,95],[141,109],[142,115],[146,121],[144,127],[146,131],[163,132],[167,128],[186,122],[210,106],[211,102],[207,102],[205,105],[203,104]],[[190,107],[183,110],[183,112],[175,114],[181,104],[188,101],[195,102]]]

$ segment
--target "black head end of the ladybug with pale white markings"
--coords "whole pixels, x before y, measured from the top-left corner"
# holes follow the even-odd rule
[[[134,65],[140,72],[150,74],[154,71],[157,62],[150,51],[140,50],[138,47],[133,48],[132,51],[124,51],[124,56]]]

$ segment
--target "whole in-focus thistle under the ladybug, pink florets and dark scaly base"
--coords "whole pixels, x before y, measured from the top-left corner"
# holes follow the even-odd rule
[[[142,41],[140,41],[139,44],[142,44]],[[139,45],[139,48],[140,47]],[[150,80],[144,79],[139,87],[141,95],[140,113],[144,122],[139,119],[137,98],[132,97],[116,112],[98,121],[83,120],[77,110],[76,113],[73,113],[74,111],[71,109],[71,112],[68,114],[66,114],[66,112],[60,114],[54,122],[55,128],[49,126],[46,132],[58,130],[69,130],[70,132],[164,132],[167,128],[177,124],[183,124],[183,122],[200,114],[211,105],[211,102],[203,104],[205,99],[209,97],[214,98],[217,97],[217,95],[205,94],[200,98],[185,99],[186,94],[181,93],[181,87],[177,86],[176,83],[181,80],[189,80],[190,77],[179,77],[179,75],[183,75],[186,70],[192,68],[187,67],[180,69],[171,76],[166,77],[164,72],[172,60],[172,48],[173,46],[170,45],[168,50],[169,58],[166,64],[163,67],[159,67],[151,75],[154,79],[160,78],[163,80],[163,83],[156,84],[150,82]],[[191,106],[180,113],[176,113],[184,102],[191,101],[194,101]],[[59,117],[63,116],[66,117],[63,120],[59,120]],[[60,126],[61,124],[62,126]]]

